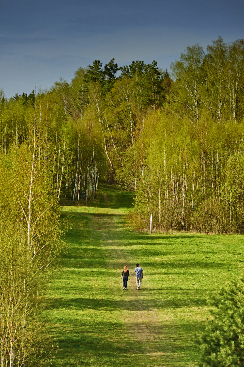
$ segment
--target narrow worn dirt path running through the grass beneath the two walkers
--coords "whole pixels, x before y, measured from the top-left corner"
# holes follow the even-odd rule
[[[104,200],[106,205],[109,207],[109,199],[106,194],[104,194]],[[141,345],[141,350],[145,355],[151,357],[152,363],[148,366],[152,367],[165,367],[164,364],[158,364],[159,357],[165,355],[166,353],[159,351],[159,342],[161,344],[163,335],[162,335],[162,323],[159,320],[158,310],[148,310],[143,309],[141,305],[141,299],[143,297],[143,292],[145,292],[146,282],[145,277],[142,280],[141,290],[137,291],[136,289],[136,281],[135,281],[135,273],[134,268],[137,259],[134,258],[130,253],[125,254],[122,252],[116,244],[116,239],[121,237],[121,225],[114,225],[114,218],[112,217],[103,217],[98,219],[100,228],[110,228],[108,232],[104,234],[104,244],[110,247],[109,250],[109,258],[116,258],[117,261],[121,264],[121,269],[118,269],[118,273],[123,269],[124,265],[127,265],[130,269],[130,281],[127,284],[127,301],[131,304],[131,310],[127,310],[125,315],[123,314],[123,320],[127,324],[127,329],[130,333],[131,339],[137,339],[138,344]],[[114,228],[116,227],[116,228]],[[113,237],[113,239],[111,239]],[[115,238],[114,238],[115,237]],[[113,249],[114,246],[114,249]],[[112,249],[111,249],[112,247]],[[128,262],[129,261],[129,262]],[[108,263],[108,268],[110,267],[110,263]],[[144,270],[146,273],[146,269]],[[123,283],[122,281],[118,281],[119,289],[122,290]],[[143,289],[144,288],[144,289]],[[118,294],[118,288],[114,289],[114,292]],[[125,293],[125,291],[121,291]],[[124,296],[124,294],[123,294]],[[170,365],[168,365],[170,366]]]

